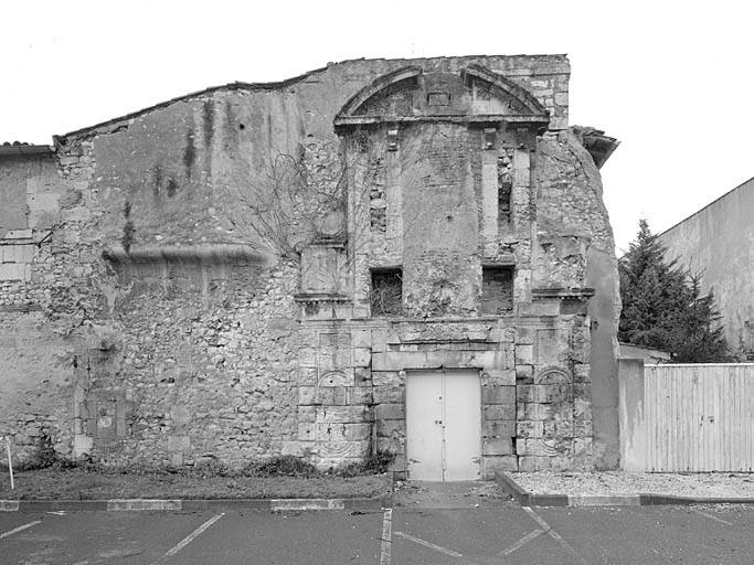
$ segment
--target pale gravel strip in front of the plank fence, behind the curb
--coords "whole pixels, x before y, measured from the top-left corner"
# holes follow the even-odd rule
[[[754,473],[702,472],[511,472],[523,489],[535,494],[754,498]]]

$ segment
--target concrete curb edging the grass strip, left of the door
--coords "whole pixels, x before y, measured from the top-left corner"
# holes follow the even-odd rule
[[[111,499],[111,500],[0,500],[0,512],[52,511],[180,511],[180,510],[380,510],[390,495],[371,499]]]

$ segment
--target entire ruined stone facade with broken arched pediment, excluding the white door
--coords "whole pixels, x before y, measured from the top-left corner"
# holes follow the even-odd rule
[[[569,73],[351,61],[0,156],[0,431],[19,457],[390,450],[411,476],[406,380],[466,370],[479,476],[615,467],[604,151]]]

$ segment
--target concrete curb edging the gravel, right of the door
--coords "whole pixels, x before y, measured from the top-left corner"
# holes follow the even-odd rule
[[[495,481],[522,507],[650,507],[658,504],[754,504],[754,498],[676,497],[672,494],[570,495],[534,494],[521,488],[507,472],[496,471]]]

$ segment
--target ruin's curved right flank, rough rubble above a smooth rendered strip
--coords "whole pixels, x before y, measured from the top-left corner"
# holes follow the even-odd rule
[[[575,128],[574,128],[575,129]],[[539,255],[535,281],[593,288],[588,301],[590,409],[594,425],[594,465],[618,465],[617,329],[620,316],[617,259],[602,180],[578,130],[545,136],[538,143]],[[587,361],[584,361],[587,362]]]

